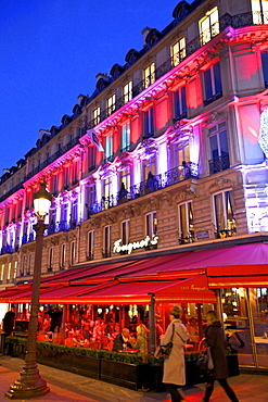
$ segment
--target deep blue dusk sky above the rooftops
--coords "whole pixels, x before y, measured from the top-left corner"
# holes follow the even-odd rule
[[[163,30],[177,0],[1,0],[1,162],[10,168],[60,126],[95,75],[142,49],[141,30]],[[191,2],[191,1],[189,1]]]

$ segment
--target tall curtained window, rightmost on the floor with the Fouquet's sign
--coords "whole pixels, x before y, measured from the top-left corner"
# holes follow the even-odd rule
[[[237,235],[233,214],[232,191],[222,191],[213,196],[214,225],[217,238]]]

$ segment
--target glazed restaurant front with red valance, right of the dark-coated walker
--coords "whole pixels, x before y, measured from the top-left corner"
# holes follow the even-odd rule
[[[209,266],[208,286],[215,289],[230,344],[239,364],[268,368],[268,269],[265,264]]]

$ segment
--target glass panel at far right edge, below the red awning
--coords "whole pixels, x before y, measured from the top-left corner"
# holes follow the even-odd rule
[[[268,367],[268,288],[250,289],[258,365]]]

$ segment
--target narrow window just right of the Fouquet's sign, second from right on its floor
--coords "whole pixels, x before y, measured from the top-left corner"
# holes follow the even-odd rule
[[[179,204],[179,243],[186,244],[194,240],[192,202]]]

